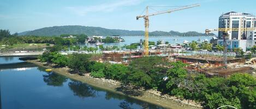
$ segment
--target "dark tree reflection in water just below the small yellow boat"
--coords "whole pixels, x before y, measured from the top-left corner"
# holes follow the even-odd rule
[[[63,82],[68,80],[65,76],[58,75],[53,72],[44,74],[43,77],[44,82],[46,82],[49,86],[63,86]]]

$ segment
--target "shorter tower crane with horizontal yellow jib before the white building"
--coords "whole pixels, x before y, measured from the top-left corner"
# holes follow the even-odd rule
[[[231,34],[231,31],[253,31],[256,30],[256,28],[217,28],[217,29],[206,29],[205,34],[209,34],[211,31],[223,31],[223,46],[224,46],[224,51],[223,51],[223,64],[224,68],[227,68],[227,37]]]

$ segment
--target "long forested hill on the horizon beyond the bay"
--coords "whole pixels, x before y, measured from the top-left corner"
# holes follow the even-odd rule
[[[62,34],[86,34],[88,36],[99,35],[99,36],[142,36],[144,31],[129,31],[121,29],[106,29],[101,27],[86,27],[81,25],[64,25],[55,27],[45,27],[32,31],[25,31],[19,33],[19,35],[36,35],[36,36],[59,36]],[[152,31],[149,33],[150,36],[206,36],[206,34],[198,33],[195,31],[189,31],[187,33],[179,33],[177,31]],[[209,34],[213,36],[215,34]]]

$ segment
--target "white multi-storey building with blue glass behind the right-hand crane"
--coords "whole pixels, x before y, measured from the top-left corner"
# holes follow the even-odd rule
[[[252,14],[241,12],[227,12],[219,16],[218,28],[238,28],[238,30],[230,31],[227,37],[228,49],[253,47],[256,43],[256,30],[246,30],[246,28],[256,27],[256,17]],[[223,43],[223,31],[218,31],[217,44]]]

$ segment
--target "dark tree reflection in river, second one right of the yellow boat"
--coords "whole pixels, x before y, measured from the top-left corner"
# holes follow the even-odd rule
[[[96,90],[82,82],[72,81],[68,83],[68,86],[74,92],[74,95],[77,95],[78,97],[96,97]]]

